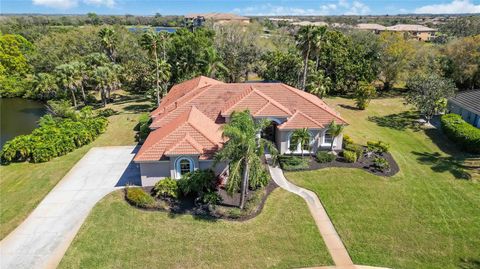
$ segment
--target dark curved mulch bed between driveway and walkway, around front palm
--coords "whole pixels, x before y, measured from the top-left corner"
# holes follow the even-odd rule
[[[132,206],[135,206],[138,209],[141,210],[146,210],[146,211],[163,211],[163,212],[168,212],[170,214],[190,214],[195,217],[201,218],[201,219],[207,219],[207,220],[217,220],[217,219],[224,219],[224,220],[231,220],[231,221],[246,221],[249,219],[252,219],[256,216],[258,216],[261,212],[262,209],[265,205],[265,201],[267,200],[267,197],[272,193],[274,189],[276,189],[278,185],[273,181],[270,180],[268,185],[260,190],[256,191],[250,191],[247,195],[247,201],[253,197],[257,192],[262,192],[262,198],[260,203],[255,205],[255,208],[250,210],[248,214],[242,214],[239,217],[230,217],[228,215],[220,214],[218,210],[215,210],[207,205],[202,205],[202,204],[197,204],[195,203],[195,198],[194,197],[182,197],[180,199],[157,199],[156,200],[159,203],[162,203],[163,205],[166,205],[166,207],[155,207],[155,208],[140,208],[137,207],[131,203],[129,203]],[[143,190],[147,193],[151,193],[153,190],[153,187],[142,187]],[[240,195],[233,195],[233,197],[228,196],[226,191],[224,189],[219,190],[220,196],[224,199],[220,205],[217,206],[223,207],[226,209],[238,209],[237,206],[240,204]],[[127,199],[125,199],[127,200]],[[127,200],[128,202],[128,200]]]

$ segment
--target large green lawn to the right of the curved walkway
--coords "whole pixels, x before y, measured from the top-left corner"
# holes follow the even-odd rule
[[[458,152],[437,130],[410,128],[415,115],[400,98],[374,100],[366,111],[351,109],[352,100],[327,102],[355,141],[389,143],[401,169],[392,178],[338,168],[287,173],[319,195],[354,263],[479,268],[479,176],[461,167],[478,156]]]

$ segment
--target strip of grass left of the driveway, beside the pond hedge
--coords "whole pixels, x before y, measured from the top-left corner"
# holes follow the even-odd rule
[[[126,100],[109,105],[121,114],[109,117],[107,131],[90,145],[46,163],[1,166],[0,239],[15,229],[92,147],[134,145],[134,127],[140,114],[128,108],[141,105],[140,102],[142,100]]]

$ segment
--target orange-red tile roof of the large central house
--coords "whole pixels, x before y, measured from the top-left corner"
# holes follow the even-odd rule
[[[135,161],[193,154],[209,159],[223,144],[221,126],[233,111],[286,118],[280,129],[325,128],[346,122],[318,97],[283,83],[223,83],[207,77],[172,87],[151,113],[154,129]]]

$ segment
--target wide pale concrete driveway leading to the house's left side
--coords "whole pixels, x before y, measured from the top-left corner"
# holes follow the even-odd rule
[[[57,267],[93,206],[125,184],[139,184],[134,155],[134,146],[92,148],[0,242],[0,268]]]

